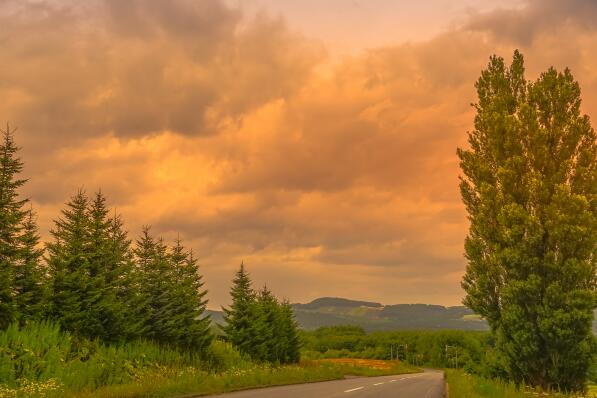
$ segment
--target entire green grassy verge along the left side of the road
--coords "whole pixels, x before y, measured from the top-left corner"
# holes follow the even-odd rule
[[[50,323],[0,332],[0,398],[207,395],[415,371],[397,361],[347,358],[260,365],[219,341],[199,359],[146,341],[103,345],[77,340]]]

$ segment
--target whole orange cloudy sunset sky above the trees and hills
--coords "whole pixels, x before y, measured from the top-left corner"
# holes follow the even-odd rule
[[[593,0],[0,0],[0,120],[41,233],[101,189],[292,302],[459,305],[456,148],[489,56],[570,67],[597,114]]]

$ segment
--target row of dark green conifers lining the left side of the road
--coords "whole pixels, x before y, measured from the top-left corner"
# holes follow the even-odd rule
[[[133,242],[102,192],[89,197],[83,190],[66,203],[42,248],[35,213],[19,195],[26,182],[19,148],[9,128],[2,133],[0,329],[49,319],[83,338],[144,338],[206,354],[214,333],[193,252],[180,239],[167,245],[149,227]],[[239,275],[224,338],[254,360],[298,361],[289,304],[265,288],[253,292],[243,265]]]

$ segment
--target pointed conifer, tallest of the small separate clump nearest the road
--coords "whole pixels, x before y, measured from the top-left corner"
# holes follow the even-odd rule
[[[239,351],[254,357],[259,348],[256,342],[260,340],[255,325],[256,298],[251,287],[251,279],[245,271],[243,263],[241,263],[232,283],[233,286],[230,290],[232,305],[230,308],[222,308],[224,324],[221,325],[221,328],[226,339]]]

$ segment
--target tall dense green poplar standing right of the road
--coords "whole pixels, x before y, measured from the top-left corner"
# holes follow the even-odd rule
[[[530,82],[514,53],[476,83],[464,303],[487,319],[517,383],[582,390],[594,353],[597,136],[568,69]]]

